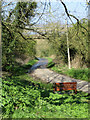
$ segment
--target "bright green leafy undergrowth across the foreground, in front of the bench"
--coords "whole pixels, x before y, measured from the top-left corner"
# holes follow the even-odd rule
[[[15,70],[2,80],[2,118],[89,118],[87,93],[53,93],[25,73],[27,65]]]

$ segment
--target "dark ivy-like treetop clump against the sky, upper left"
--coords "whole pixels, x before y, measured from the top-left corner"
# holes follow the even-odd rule
[[[14,9],[14,24],[17,27],[25,27],[25,23],[29,24],[31,18],[35,16],[34,10],[37,7],[36,2],[17,2]]]

